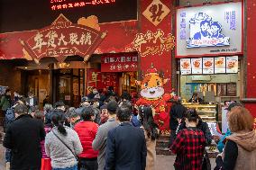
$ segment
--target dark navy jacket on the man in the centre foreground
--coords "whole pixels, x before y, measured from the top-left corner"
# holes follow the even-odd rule
[[[106,139],[105,170],[144,170],[147,148],[144,132],[123,122]]]

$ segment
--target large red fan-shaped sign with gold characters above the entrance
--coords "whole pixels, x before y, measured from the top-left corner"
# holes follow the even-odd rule
[[[74,24],[60,14],[50,26],[21,42],[36,62],[44,57],[54,57],[59,62],[63,62],[68,56],[74,55],[84,57],[87,61],[105,35],[105,32]]]

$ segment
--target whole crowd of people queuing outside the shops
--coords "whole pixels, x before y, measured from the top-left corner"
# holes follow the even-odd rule
[[[170,108],[169,150],[177,155],[177,170],[211,169],[206,146],[212,139],[220,154],[215,170],[256,169],[256,134],[251,113],[240,103],[228,108],[229,130],[212,136],[195,109],[175,97]],[[0,107],[5,112],[5,159],[11,170],[154,170],[160,136],[151,105],[135,106],[124,92],[120,100],[109,89],[93,89],[80,107],[44,102],[43,111],[32,95],[11,99],[6,90]],[[135,109],[136,108],[136,109]]]

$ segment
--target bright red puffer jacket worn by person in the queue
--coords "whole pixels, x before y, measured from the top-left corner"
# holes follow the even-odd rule
[[[93,140],[96,138],[98,125],[92,121],[80,121],[76,124],[74,130],[77,131],[78,137],[83,146],[83,152],[79,157],[95,158],[98,152],[92,148]]]

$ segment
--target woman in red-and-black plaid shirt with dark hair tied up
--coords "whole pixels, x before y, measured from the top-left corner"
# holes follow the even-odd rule
[[[180,130],[170,150],[177,154],[174,167],[177,170],[202,170],[206,138],[197,128],[199,116],[195,109],[185,113],[187,129]]]

